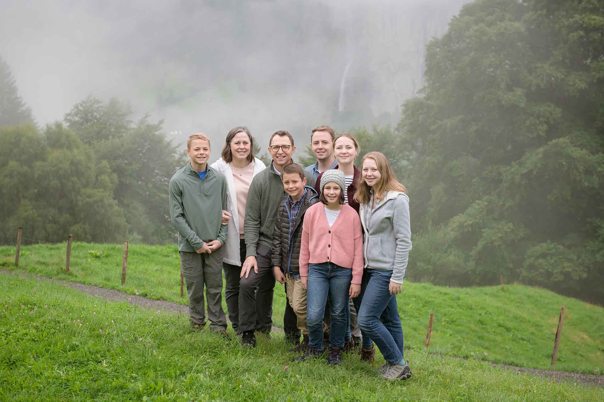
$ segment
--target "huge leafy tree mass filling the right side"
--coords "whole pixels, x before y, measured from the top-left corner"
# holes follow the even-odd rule
[[[430,43],[396,147],[414,245],[435,263],[440,239],[449,273],[411,259],[411,277],[604,300],[603,31],[596,0],[478,0]]]

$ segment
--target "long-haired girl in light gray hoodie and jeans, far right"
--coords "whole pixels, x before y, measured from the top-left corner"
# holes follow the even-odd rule
[[[361,204],[365,272],[358,322],[363,343],[365,339],[375,342],[386,360],[379,368],[382,378],[406,380],[411,377],[411,369],[403,356],[396,295],[401,292],[411,250],[409,198],[384,154],[369,152],[361,165],[362,180],[355,199]],[[363,345],[366,347],[374,350],[373,344]]]

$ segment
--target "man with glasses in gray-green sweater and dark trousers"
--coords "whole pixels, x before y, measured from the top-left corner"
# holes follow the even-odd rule
[[[272,297],[275,277],[272,271],[272,236],[275,216],[284,193],[281,174],[283,167],[292,163],[294,137],[288,131],[277,131],[269,140],[268,151],[272,163],[255,175],[249,185],[245,207],[243,233],[245,236],[246,259],[241,269],[239,283],[239,331],[241,344],[255,347],[254,331],[269,334],[272,327]],[[306,185],[314,186],[315,179],[305,172]],[[297,318],[286,301],[283,317],[286,339],[298,341],[300,330]]]

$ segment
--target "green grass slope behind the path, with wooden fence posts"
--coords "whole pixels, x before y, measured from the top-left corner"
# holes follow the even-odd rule
[[[180,297],[176,246],[130,245],[122,286],[123,246],[74,243],[65,273],[65,243],[21,248],[16,271],[59,278],[130,294],[186,304]],[[14,247],[0,247],[0,266],[14,268]],[[430,313],[434,327],[428,351],[509,365],[551,369],[551,351],[561,306],[567,313],[556,369],[604,374],[604,309],[553,292],[521,285],[439,287],[405,282],[398,297],[405,347],[423,351]],[[275,286],[273,319],[283,324],[285,295]],[[224,301],[223,301],[224,305]],[[226,306],[225,306],[226,311]]]

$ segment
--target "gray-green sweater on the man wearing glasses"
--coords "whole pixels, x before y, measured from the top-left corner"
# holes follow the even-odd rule
[[[304,171],[304,176],[306,186],[315,185],[315,179],[310,172]],[[256,247],[259,243],[269,249],[272,248],[275,217],[283,193],[281,175],[275,171],[272,162],[252,179],[249,185],[248,202],[245,204],[245,221],[243,221],[246,257],[256,255]]]

